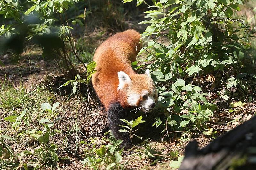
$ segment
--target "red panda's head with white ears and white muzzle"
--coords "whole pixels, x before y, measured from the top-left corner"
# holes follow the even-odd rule
[[[130,106],[138,107],[144,112],[151,111],[156,106],[158,93],[149,70],[145,74],[133,74],[128,76],[123,71],[118,72],[119,85],[117,90],[123,90],[126,94],[126,102]]]

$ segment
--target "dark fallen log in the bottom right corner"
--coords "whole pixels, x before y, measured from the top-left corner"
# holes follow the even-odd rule
[[[256,116],[215,139],[203,149],[188,143],[179,170],[256,169]]]

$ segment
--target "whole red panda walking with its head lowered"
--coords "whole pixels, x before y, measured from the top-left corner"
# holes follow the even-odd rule
[[[119,125],[126,125],[120,119],[126,119],[131,108],[151,111],[158,96],[149,70],[136,74],[131,67],[139,53],[139,41],[135,30],[117,33],[98,47],[93,58],[97,70],[92,74],[93,88],[106,109],[110,130],[123,140],[124,149],[131,148],[132,142],[128,133],[119,132]]]

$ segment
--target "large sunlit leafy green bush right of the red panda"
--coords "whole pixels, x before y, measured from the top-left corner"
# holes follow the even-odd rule
[[[143,2],[137,0],[137,6]],[[139,55],[148,53],[142,62],[152,70],[151,76],[159,90],[158,107],[166,116],[164,120],[156,118],[153,126],[163,125],[167,134],[166,124],[175,129],[193,124],[204,131],[206,121],[216,110],[205,98],[208,93],[202,92],[202,84],[199,87],[205,74],[226,75],[227,87],[219,93],[225,100],[229,99],[232,86],[247,90],[238,79],[255,78],[250,71],[255,55],[251,55],[252,47],[243,43],[243,39],[251,37],[247,36],[249,26],[241,18],[232,18],[233,11],[239,11],[239,5],[244,2],[152,0],[153,5],[145,12],[149,20],[140,22],[149,26],[141,34],[147,45]],[[181,116],[171,115],[173,111]]]

